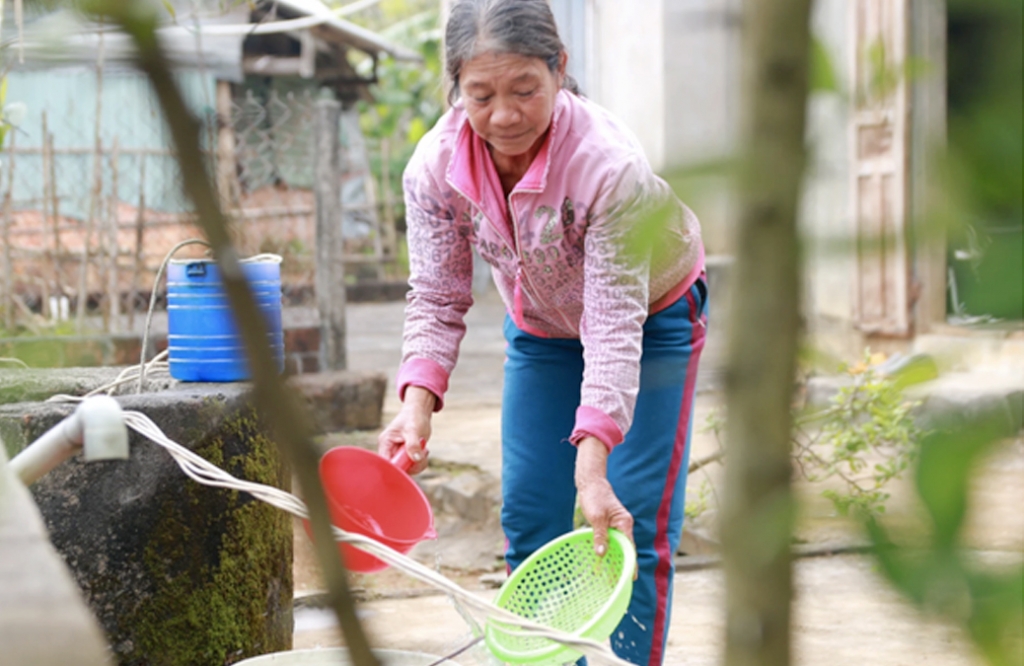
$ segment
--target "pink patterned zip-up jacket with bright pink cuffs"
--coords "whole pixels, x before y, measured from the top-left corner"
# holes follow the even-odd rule
[[[520,330],[583,343],[570,441],[620,444],[633,418],[644,321],[703,268],[696,217],[633,134],[560,91],[548,138],[506,200],[485,143],[456,105],[420,141],[403,185],[412,289],[399,396],[422,386],[441,408],[473,302],[476,247]],[[645,219],[664,226],[637,234]]]

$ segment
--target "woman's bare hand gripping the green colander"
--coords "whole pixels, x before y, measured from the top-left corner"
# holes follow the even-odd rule
[[[580,508],[594,528],[594,550],[599,556],[608,550],[608,528],[633,541],[633,516],[615,496],[608,483],[608,449],[597,438],[584,438],[577,451],[575,485]]]

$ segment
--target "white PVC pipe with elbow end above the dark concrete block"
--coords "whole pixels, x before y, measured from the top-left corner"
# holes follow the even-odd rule
[[[61,462],[85,449],[86,460],[128,458],[128,428],[121,406],[110,396],[93,396],[75,413],[47,430],[10,461],[10,468],[31,486]]]

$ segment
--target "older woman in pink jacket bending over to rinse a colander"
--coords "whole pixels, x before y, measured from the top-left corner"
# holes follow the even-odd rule
[[[546,0],[461,0],[445,33],[452,109],[404,174],[412,276],[390,457],[440,410],[472,304],[473,248],[508,315],[502,527],[515,568],[572,529],[639,573],[612,649],[660,664],[705,339],[699,224],[632,133],[583,97]]]

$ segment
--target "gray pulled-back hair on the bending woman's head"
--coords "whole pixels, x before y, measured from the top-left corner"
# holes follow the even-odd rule
[[[449,101],[459,98],[462,66],[480,53],[539,57],[556,73],[563,51],[548,0],[458,0],[444,30]],[[579,85],[567,74],[562,87],[580,94]]]

